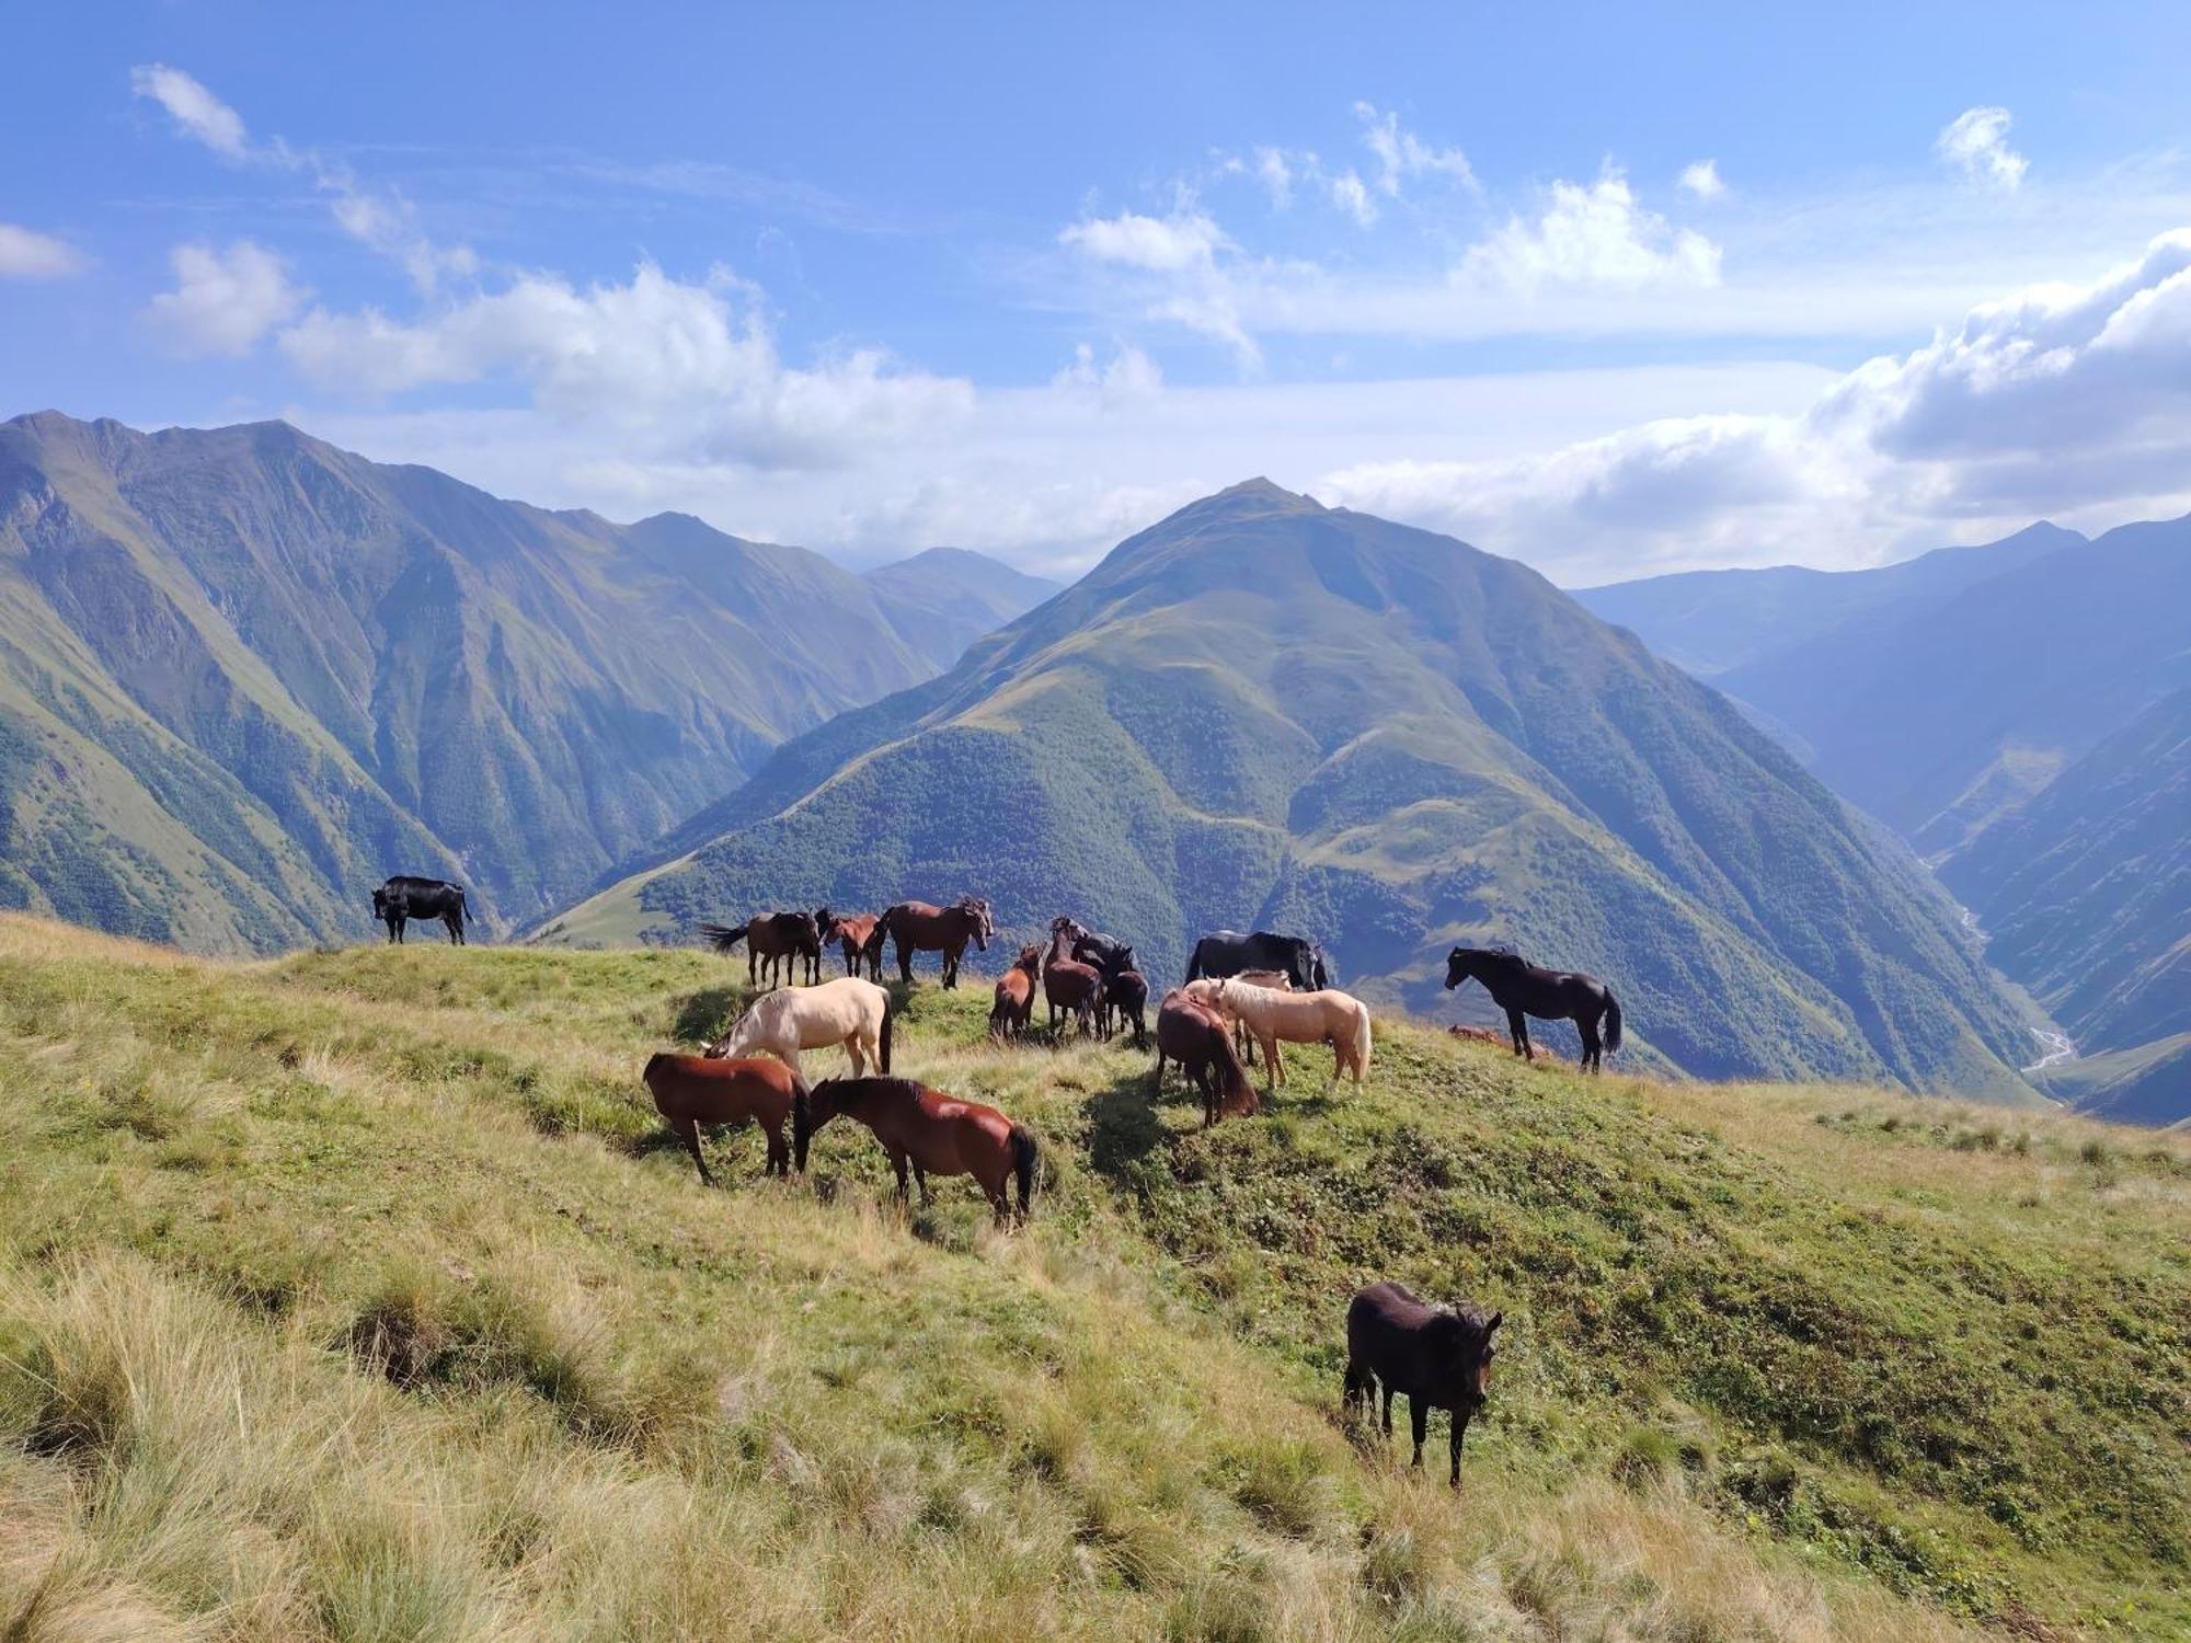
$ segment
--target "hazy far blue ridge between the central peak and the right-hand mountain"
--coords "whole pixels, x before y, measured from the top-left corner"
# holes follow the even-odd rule
[[[1981,548],[1937,548],[1873,570],[1694,570],[1578,587],[1575,600],[1632,629],[1667,662],[1709,679],[1847,622],[1906,620],[1974,583],[2081,541],[2075,530],[2040,521]]]

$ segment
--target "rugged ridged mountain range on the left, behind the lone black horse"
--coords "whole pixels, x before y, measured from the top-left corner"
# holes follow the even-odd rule
[[[283,423],[0,423],[0,905],[208,951],[491,927],[1049,589],[500,502]],[[968,589],[977,589],[968,591]]]

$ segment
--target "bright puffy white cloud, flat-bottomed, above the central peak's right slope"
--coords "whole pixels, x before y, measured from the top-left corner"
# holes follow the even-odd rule
[[[1551,184],[1536,221],[1510,217],[1461,258],[1459,278],[1512,291],[1545,287],[1707,287],[1720,283],[1720,248],[1691,228],[1643,210],[1621,171],[1597,182]]]

